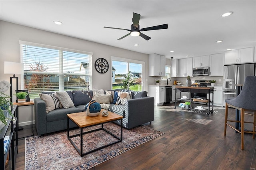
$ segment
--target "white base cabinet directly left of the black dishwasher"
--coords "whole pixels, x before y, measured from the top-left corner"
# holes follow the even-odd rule
[[[162,105],[165,101],[165,87],[148,86],[148,96],[155,98],[155,105]]]

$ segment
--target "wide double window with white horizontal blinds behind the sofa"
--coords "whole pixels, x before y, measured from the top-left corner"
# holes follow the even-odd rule
[[[86,89],[92,84],[92,53],[21,42],[24,89],[30,98],[42,91]]]

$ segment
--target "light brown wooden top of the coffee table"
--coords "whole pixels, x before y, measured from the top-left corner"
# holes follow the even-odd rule
[[[67,116],[80,128],[97,125],[100,123],[107,123],[110,121],[116,121],[123,118],[122,116],[110,111],[108,111],[108,116],[102,116],[103,110],[104,109],[101,109],[100,115],[98,116],[88,116],[86,112],[70,113]]]

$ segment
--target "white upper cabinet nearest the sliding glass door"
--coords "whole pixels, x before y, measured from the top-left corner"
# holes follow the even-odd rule
[[[165,56],[150,54],[148,59],[149,76],[165,76]]]

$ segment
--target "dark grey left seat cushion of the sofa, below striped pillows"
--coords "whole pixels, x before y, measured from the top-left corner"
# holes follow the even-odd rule
[[[56,109],[46,114],[46,121],[52,122],[52,121],[67,119],[67,114],[78,113],[78,112],[82,112],[82,110],[76,107],[70,107],[68,109],[64,109],[64,108]]]

